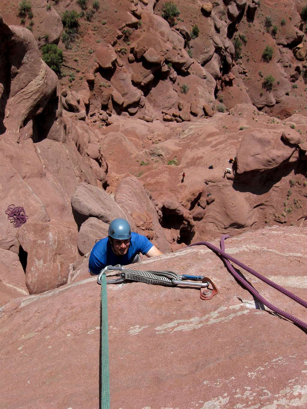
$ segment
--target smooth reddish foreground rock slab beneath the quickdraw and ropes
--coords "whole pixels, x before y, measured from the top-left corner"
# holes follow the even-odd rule
[[[266,228],[226,240],[226,252],[304,298],[306,233]],[[305,333],[255,302],[211,250],[196,246],[138,267],[205,272],[219,293],[202,301],[192,288],[108,285],[111,407],[306,406]],[[305,308],[243,274],[306,321]],[[93,277],[2,308],[2,407],[99,407],[99,304]]]

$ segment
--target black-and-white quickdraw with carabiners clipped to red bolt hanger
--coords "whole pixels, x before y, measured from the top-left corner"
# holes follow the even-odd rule
[[[108,265],[100,272],[97,283],[102,283],[102,276],[107,271],[121,271],[116,279],[106,280],[107,284],[122,283],[125,280],[140,281],[142,283],[154,285],[167,285],[169,287],[176,287],[176,285],[188,285],[190,287],[199,287],[201,290],[200,297],[202,300],[210,300],[218,293],[216,285],[208,277],[193,276],[193,275],[179,275],[173,271],[141,271],[133,270],[131,268],[124,268],[123,265]],[[188,281],[195,280],[195,281]]]

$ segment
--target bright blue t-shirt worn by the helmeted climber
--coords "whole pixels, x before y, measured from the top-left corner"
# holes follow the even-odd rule
[[[93,247],[88,260],[88,268],[94,274],[99,274],[106,265],[130,264],[136,254],[149,252],[152,243],[147,237],[131,233],[130,246],[126,254],[117,256],[113,253],[108,237],[99,240]]]

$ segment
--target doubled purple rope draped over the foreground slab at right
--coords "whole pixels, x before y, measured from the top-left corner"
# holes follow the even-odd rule
[[[250,291],[253,294],[254,297],[256,297],[259,301],[261,301],[265,306],[270,308],[272,311],[276,312],[279,315],[282,315],[282,317],[287,318],[290,321],[293,321],[295,324],[297,324],[301,328],[304,328],[305,330],[307,330],[307,324],[304,321],[301,321],[300,319],[298,319],[296,317],[293,317],[293,315],[288,314],[288,312],[282,311],[279,308],[273,306],[273,304],[269,303],[269,301],[266,301],[266,299],[264,299],[259,294],[259,292],[257,290],[255,290],[255,288],[253,288],[253,286],[251,284],[249,284],[242,276],[240,276],[235,271],[233,266],[230,264],[229,260],[232,261],[233,263],[237,264],[239,267],[242,267],[247,272],[253,274],[258,279],[264,281],[264,283],[271,285],[271,287],[273,287],[276,290],[278,290],[278,291],[282,292],[283,294],[287,295],[287,297],[293,299],[294,301],[299,303],[301,306],[307,308],[307,302],[302,300],[300,297],[297,297],[295,294],[292,294],[290,291],[284,289],[280,285],[274,283],[273,281],[271,281],[271,280],[267,279],[266,277],[262,276],[261,274],[257,273],[251,267],[248,267],[247,265],[241,263],[241,261],[236,260],[233,256],[230,256],[230,254],[225,253],[225,251],[224,251],[225,250],[224,240],[226,238],[228,238],[228,237],[229,237],[228,234],[225,234],[224,236],[221,237],[221,240],[220,240],[221,249],[219,249],[218,247],[215,247],[213,244],[208,243],[207,241],[200,241],[199,243],[193,243],[193,244],[188,245],[187,247],[195,246],[195,245],[205,245],[205,246],[209,247],[211,250],[213,250],[214,252],[217,252],[217,253],[221,254],[221,256],[223,258],[223,261],[225,261],[225,263],[226,263],[226,265],[228,267],[228,270],[231,272],[231,274],[233,274],[233,276],[240,283],[242,283],[242,285],[244,285],[244,287],[247,288],[247,290]]]

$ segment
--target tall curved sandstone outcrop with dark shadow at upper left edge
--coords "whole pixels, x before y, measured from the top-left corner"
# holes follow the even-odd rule
[[[56,91],[58,78],[41,60],[31,31],[8,26],[1,17],[0,40],[2,53],[6,55],[2,75],[7,79],[0,82],[4,82],[9,97],[5,107],[2,106],[5,108],[3,125],[7,128],[7,137],[11,135],[17,141],[25,119],[29,121],[43,112]]]

